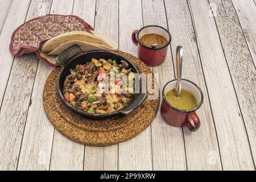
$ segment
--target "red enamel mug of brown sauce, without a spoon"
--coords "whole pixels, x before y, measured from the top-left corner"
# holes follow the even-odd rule
[[[145,34],[162,35],[168,43],[162,47],[148,47],[139,40]],[[156,67],[166,59],[168,46],[171,43],[171,34],[166,28],[150,25],[140,30],[134,30],[133,34],[131,34],[131,40],[133,40],[135,46],[138,46],[138,58],[149,67]]]

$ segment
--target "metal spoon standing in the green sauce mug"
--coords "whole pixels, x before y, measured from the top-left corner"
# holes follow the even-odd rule
[[[183,59],[183,47],[177,46],[176,48],[176,66],[177,66],[177,97],[180,97],[181,93],[181,68]]]

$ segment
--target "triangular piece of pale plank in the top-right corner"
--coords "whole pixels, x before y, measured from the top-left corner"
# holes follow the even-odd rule
[[[247,42],[247,46],[253,57],[254,66],[256,65],[256,8],[255,4],[251,0],[237,1],[233,0],[234,8],[240,24],[243,34]]]

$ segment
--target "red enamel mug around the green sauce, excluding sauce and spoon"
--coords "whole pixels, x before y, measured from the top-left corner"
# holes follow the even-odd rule
[[[162,91],[163,101],[161,105],[161,115],[164,121],[171,126],[180,127],[184,125],[189,131],[196,131],[200,127],[200,119],[195,111],[199,109],[203,103],[203,92],[194,82],[182,79],[182,88],[192,92],[192,94],[196,97],[198,104],[192,110],[177,109],[166,100],[165,96],[168,90],[176,88],[176,82],[177,80],[172,80],[164,85]]]

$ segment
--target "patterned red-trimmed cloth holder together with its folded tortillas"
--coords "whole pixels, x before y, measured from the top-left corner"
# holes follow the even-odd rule
[[[112,39],[95,32],[78,16],[49,14],[28,20],[16,28],[11,36],[10,52],[14,56],[35,52],[40,60],[57,66],[57,55],[75,44],[83,52],[118,47]]]

